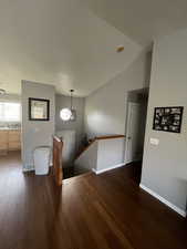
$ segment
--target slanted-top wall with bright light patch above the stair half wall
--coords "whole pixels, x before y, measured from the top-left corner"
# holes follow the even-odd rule
[[[124,134],[127,92],[148,85],[148,53],[142,53],[131,66],[86,97],[85,131],[89,136]]]

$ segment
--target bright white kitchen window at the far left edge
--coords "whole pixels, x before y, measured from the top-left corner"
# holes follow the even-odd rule
[[[0,122],[20,122],[20,103],[0,102]]]

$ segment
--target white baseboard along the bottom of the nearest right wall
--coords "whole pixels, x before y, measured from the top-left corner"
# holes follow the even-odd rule
[[[187,214],[185,210],[183,210],[181,208],[178,208],[177,206],[175,206],[174,204],[169,203],[167,199],[165,199],[164,197],[159,196],[158,194],[156,194],[155,191],[153,191],[152,189],[147,188],[146,186],[144,186],[143,184],[139,185],[139,187],[142,189],[144,189],[145,191],[147,191],[148,194],[150,194],[152,196],[154,196],[155,198],[157,198],[158,200],[160,200],[163,204],[167,205],[169,208],[172,208],[174,211],[178,212],[180,216],[186,217]]]

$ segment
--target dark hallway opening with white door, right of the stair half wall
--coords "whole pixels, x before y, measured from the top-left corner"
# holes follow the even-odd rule
[[[137,181],[141,180],[144,137],[147,116],[148,89],[128,92],[126,132],[125,132],[125,164],[135,167]]]

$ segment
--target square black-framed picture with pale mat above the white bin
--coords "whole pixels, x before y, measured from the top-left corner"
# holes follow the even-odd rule
[[[29,121],[50,121],[50,100],[29,97]]]

